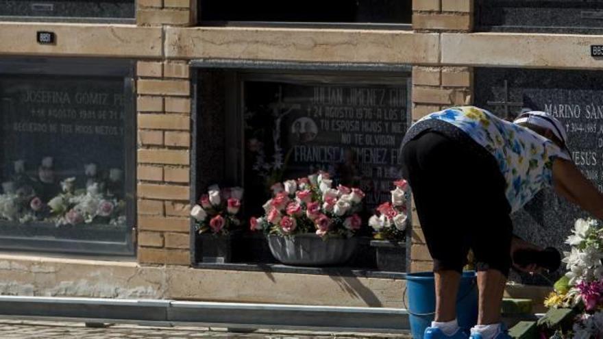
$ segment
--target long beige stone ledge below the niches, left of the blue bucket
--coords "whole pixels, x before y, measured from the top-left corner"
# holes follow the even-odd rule
[[[402,308],[401,279],[0,255],[0,294]]]

